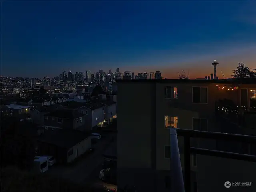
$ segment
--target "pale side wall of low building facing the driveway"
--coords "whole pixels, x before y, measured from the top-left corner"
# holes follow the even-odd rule
[[[73,149],[73,154],[71,156],[68,156],[67,153],[67,162],[72,162],[75,158],[78,158],[80,155],[84,154],[87,150],[91,148],[91,137],[86,138],[82,142],[76,144],[74,147],[72,147],[70,150]],[[68,150],[68,151],[70,151]]]

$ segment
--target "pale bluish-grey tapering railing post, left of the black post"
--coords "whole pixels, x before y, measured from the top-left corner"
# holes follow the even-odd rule
[[[170,128],[171,192],[185,192],[177,132]]]

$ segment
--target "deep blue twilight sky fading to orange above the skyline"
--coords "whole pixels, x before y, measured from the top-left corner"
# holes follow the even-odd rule
[[[1,1],[1,75],[256,68],[256,1]]]

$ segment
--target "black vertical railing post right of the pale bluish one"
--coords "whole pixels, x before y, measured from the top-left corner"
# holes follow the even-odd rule
[[[190,137],[184,136],[184,168],[185,168],[185,191],[190,192],[191,171],[190,171]]]

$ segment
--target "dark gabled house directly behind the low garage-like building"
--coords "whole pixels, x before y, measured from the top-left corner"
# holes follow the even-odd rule
[[[84,130],[86,115],[75,110],[61,109],[44,115],[44,128],[48,131]]]

